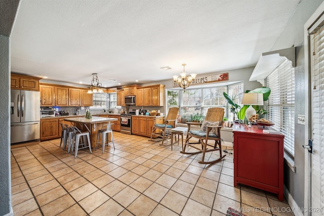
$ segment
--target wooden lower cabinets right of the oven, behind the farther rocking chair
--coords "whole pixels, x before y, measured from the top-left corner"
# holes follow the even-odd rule
[[[141,135],[145,137],[151,137],[152,128],[154,125],[154,118],[160,118],[156,120],[156,123],[163,123],[164,116],[132,116],[132,134]]]

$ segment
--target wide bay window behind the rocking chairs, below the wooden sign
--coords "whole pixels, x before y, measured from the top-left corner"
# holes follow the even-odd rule
[[[227,101],[223,96],[223,92],[233,95],[237,94],[237,102],[241,100],[243,95],[243,82],[218,87],[186,89],[184,90],[168,90],[168,105],[170,107],[179,107],[181,116],[189,117],[193,113],[206,114],[208,108],[224,107],[225,116],[233,119],[233,114],[228,113]]]

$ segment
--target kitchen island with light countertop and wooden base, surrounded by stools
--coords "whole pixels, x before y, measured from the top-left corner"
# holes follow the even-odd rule
[[[117,118],[105,118],[96,116],[93,116],[91,119],[86,119],[86,117],[73,117],[64,119],[64,121],[72,122],[72,124],[79,128],[80,131],[90,132],[90,142],[92,148],[96,147],[97,145],[97,136],[99,129],[101,129],[104,124],[113,123],[117,120]]]

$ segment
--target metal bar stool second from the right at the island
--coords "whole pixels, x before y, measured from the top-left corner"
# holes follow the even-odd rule
[[[72,152],[73,153],[73,146],[75,147],[75,153],[74,153],[74,158],[76,158],[77,151],[79,149],[85,149],[89,147],[90,152],[91,151],[91,143],[90,143],[90,133],[89,132],[81,132],[76,126],[71,126],[73,128],[73,138],[72,138]],[[81,138],[81,143],[80,143],[80,138]],[[87,139],[86,139],[87,138]],[[87,141],[88,141],[88,146],[87,146]],[[82,146],[82,147],[80,147]]]

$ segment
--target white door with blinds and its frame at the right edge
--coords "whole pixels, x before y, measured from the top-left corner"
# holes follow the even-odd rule
[[[305,174],[305,182],[308,181],[309,184],[310,199],[308,208],[304,209],[304,215],[316,216],[324,215],[324,16],[320,16],[323,11],[322,4],[305,24],[305,29],[309,32],[307,37],[309,71],[307,74],[310,79],[308,88],[310,120],[306,137],[312,141],[312,153],[307,153],[308,160],[306,157],[310,163],[308,164],[309,175]],[[308,23],[311,24],[307,26]]]

